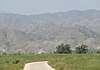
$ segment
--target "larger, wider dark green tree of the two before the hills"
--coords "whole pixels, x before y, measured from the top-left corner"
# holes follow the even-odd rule
[[[61,43],[61,45],[56,47],[56,53],[71,53],[70,48],[70,45]]]

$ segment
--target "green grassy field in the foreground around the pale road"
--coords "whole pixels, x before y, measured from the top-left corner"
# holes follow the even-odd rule
[[[16,60],[20,61],[14,63]],[[23,70],[26,63],[36,61],[49,61],[56,70],[100,70],[97,54],[1,55],[0,70]]]

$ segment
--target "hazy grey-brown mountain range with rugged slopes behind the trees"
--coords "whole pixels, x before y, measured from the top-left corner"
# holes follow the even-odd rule
[[[60,43],[100,46],[100,11],[20,15],[0,13],[0,52],[53,52]]]

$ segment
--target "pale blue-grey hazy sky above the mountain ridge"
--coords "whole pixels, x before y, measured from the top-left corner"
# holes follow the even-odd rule
[[[0,13],[28,15],[89,9],[100,10],[100,0],[0,0]]]

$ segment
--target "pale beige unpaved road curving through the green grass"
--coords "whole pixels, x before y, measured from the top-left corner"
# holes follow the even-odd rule
[[[23,70],[55,70],[48,65],[48,61],[32,62],[25,65]]]

